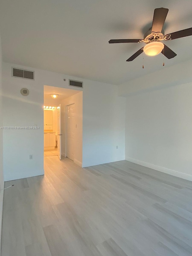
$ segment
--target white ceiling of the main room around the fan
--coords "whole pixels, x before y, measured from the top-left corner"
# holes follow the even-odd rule
[[[165,34],[192,27],[191,0],[1,0],[3,61],[91,80],[120,84],[163,68],[163,55],[126,62],[144,43],[109,44],[143,38],[155,8],[169,8]],[[192,36],[166,42],[177,56],[192,57]]]

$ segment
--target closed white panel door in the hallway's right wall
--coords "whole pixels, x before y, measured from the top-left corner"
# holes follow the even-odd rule
[[[67,106],[67,157],[74,160],[75,104]]]

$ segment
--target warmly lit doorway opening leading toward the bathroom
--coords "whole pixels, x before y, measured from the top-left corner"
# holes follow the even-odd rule
[[[49,114],[46,121],[44,120],[45,157],[57,156],[63,161],[67,157],[82,166],[82,94],[83,92],[76,88],[44,85],[44,114],[52,112],[52,115]],[[54,133],[55,145],[49,149],[47,146],[54,144]]]

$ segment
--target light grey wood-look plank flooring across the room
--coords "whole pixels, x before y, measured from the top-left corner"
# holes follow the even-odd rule
[[[191,256],[192,182],[128,161],[6,182],[2,256]]]

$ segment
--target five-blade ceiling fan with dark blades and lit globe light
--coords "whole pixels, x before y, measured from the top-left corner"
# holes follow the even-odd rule
[[[177,54],[174,53],[167,45],[161,43],[162,40],[169,41],[176,38],[182,38],[192,35],[192,28],[180,30],[174,33],[164,35],[163,25],[167,17],[169,9],[157,8],[154,11],[152,28],[144,35],[144,39],[115,39],[110,40],[110,44],[114,43],[146,43],[144,47],[138,50],[126,61],[132,61],[141,53],[146,53],[148,56],[155,56],[163,53],[168,59],[174,58]]]

